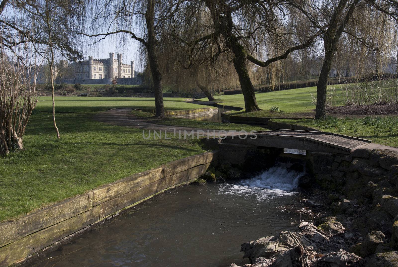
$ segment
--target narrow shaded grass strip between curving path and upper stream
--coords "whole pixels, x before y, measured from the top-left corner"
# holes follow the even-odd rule
[[[156,123],[160,125],[168,125],[168,126],[177,126],[177,127],[190,127],[190,128],[199,128],[199,129],[210,129],[210,130],[235,130],[235,131],[264,131],[268,130],[267,128],[261,126],[254,125],[246,125],[246,124],[237,124],[237,123],[215,123],[209,121],[196,121],[191,119],[182,119],[182,118],[164,118],[164,119],[154,119],[151,118],[153,113],[147,112],[139,112],[132,111],[132,114],[145,118],[149,123]]]

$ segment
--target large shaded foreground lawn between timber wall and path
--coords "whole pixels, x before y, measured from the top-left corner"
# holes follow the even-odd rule
[[[141,129],[93,121],[93,113],[35,113],[25,150],[0,157],[0,221],[204,150],[193,140],[144,140]]]

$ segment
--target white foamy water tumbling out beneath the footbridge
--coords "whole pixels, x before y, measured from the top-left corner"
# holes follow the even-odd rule
[[[292,195],[296,193],[294,189],[302,175],[302,172],[272,167],[251,179],[240,180],[236,184],[224,184],[220,188],[220,194],[254,195],[258,200]]]

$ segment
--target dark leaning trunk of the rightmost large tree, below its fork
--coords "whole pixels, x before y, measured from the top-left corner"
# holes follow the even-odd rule
[[[327,46],[325,42],[325,59],[322,64],[321,73],[319,74],[318,86],[316,87],[315,119],[326,118],[327,87],[335,50],[335,48]]]

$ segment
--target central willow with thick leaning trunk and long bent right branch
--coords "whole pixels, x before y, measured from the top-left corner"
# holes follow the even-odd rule
[[[290,53],[311,46],[316,38],[316,34],[304,40],[291,38],[294,33],[288,25],[292,21],[285,16],[289,11],[279,1],[197,0],[184,2],[181,10],[178,24],[189,27],[176,32],[179,36],[176,40],[191,47],[183,65],[191,65],[197,55],[207,54],[209,60],[214,61],[229,51],[246,112],[259,110],[251,71],[286,59]],[[192,28],[197,29],[194,34]],[[266,43],[273,43],[276,48],[273,51],[279,53],[259,51],[261,44]]]

